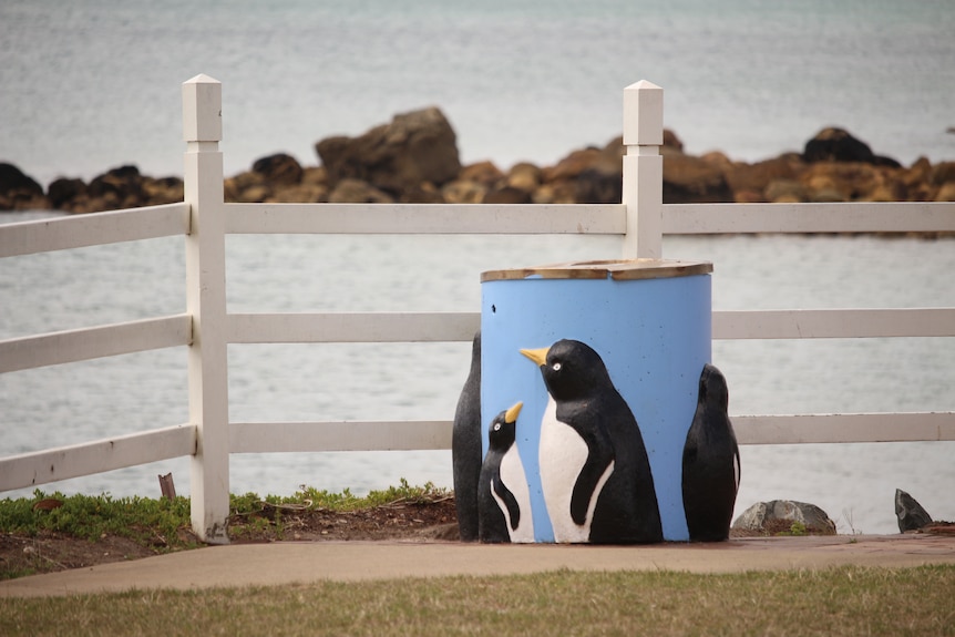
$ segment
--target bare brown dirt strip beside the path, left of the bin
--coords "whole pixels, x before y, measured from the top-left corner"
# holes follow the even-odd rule
[[[327,540],[458,540],[454,499],[427,503],[391,503],[348,513],[265,505],[253,515],[229,518],[232,543]],[[280,524],[276,523],[279,513]],[[179,530],[183,544],[198,544],[188,530]],[[52,573],[137,559],[170,551],[170,540],[155,536],[150,545],[127,537],[104,535],[97,541],[57,533],[35,537],[0,534],[0,578]]]

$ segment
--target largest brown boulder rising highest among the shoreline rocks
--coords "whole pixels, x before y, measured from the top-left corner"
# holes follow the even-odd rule
[[[396,199],[423,183],[441,186],[461,171],[454,130],[437,107],[396,115],[358,137],[328,137],[316,144],[329,186],[359,179]]]

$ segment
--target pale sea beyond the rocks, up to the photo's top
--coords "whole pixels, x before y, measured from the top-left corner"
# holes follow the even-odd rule
[[[757,161],[829,125],[910,164],[955,158],[949,0],[4,0],[0,161],[41,183],[182,174],[181,84],[223,82],[226,174],[440,106],[462,161],[548,165],[665,90],[690,153]]]

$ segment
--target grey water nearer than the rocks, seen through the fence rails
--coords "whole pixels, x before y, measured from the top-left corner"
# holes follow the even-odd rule
[[[22,220],[44,216],[18,213]],[[229,311],[469,311],[485,269],[607,258],[597,237],[232,236]],[[715,264],[716,309],[955,305],[948,242],[835,237],[672,238],[668,257]],[[0,338],[185,310],[177,238],[4,259]],[[435,274],[438,273],[438,274]],[[731,413],[938,411],[955,405],[955,339],[716,341]],[[450,419],[470,343],[230,346],[230,420]],[[184,348],[0,376],[0,455],[187,420]],[[813,502],[843,531],[896,530],[893,495],[955,516],[952,443],[745,446],[738,511],[778,497]],[[158,495],[178,459],[65,481],[66,493]],[[450,452],[232,456],[232,491],[300,484],[356,492],[400,477],[451,485]],[[25,495],[29,490],[7,495]]]

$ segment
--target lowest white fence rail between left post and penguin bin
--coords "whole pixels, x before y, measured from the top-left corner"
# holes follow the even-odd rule
[[[233,453],[444,450],[451,421],[236,422],[229,441]]]

